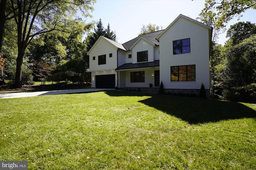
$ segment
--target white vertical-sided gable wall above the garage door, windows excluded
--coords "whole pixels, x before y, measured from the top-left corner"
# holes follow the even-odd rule
[[[112,57],[109,57],[110,53],[112,53]],[[106,64],[98,65],[98,56],[105,54]],[[95,60],[92,60],[92,57],[95,57]],[[104,38],[101,38],[100,41],[97,41],[96,44],[93,46],[93,49],[90,50],[89,62],[90,72],[100,70],[114,70],[115,68],[117,68],[117,48],[108,41],[106,41]]]

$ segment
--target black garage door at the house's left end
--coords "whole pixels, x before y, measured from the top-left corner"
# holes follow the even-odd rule
[[[96,88],[115,88],[115,74],[95,76]]]

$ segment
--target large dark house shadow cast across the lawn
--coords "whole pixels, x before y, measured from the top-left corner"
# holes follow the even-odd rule
[[[244,117],[256,118],[256,111],[254,109],[237,102],[137,92],[107,91],[106,94],[109,96],[150,96],[150,98],[139,102],[188,121],[190,124]]]

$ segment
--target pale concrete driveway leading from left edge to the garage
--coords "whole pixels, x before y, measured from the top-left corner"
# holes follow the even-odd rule
[[[70,94],[70,93],[81,93],[81,92],[96,92],[103,90],[115,90],[109,88],[83,88],[83,89],[72,89],[72,90],[54,90],[54,91],[42,91],[42,92],[18,92],[18,93],[0,93],[0,99],[6,98],[24,98],[40,95],[52,95],[52,94]]]

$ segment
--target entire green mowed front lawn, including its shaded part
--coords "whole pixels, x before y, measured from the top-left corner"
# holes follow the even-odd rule
[[[256,169],[256,104],[111,90],[0,102],[0,160],[29,170]]]

